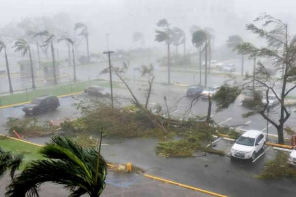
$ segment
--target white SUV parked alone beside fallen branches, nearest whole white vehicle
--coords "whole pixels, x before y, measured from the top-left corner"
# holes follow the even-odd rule
[[[230,154],[231,157],[254,160],[256,153],[265,147],[266,139],[262,131],[249,130],[235,141]]]

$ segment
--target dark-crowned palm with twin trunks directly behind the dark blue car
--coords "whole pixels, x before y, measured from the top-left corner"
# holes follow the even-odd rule
[[[208,67],[208,33],[203,30],[196,31],[192,34],[192,44],[199,47],[199,62],[201,62],[201,46],[205,44],[205,87],[207,87],[207,67]],[[200,64],[200,85],[201,85],[201,64]]]

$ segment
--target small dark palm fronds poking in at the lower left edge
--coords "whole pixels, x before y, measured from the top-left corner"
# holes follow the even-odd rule
[[[9,151],[4,151],[0,148],[0,177],[10,169],[10,177],[14,177],[15,170],[17,170],[22,163],[24,155],[13,155]]]

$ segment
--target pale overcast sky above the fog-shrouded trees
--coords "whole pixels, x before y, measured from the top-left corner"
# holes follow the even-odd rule
[[[151,7],[154,9],[156,6],[166,7],[167,4],[172,4],[172,6],[174,4],[178,6],[182,3],[189,4],[189,1],[192,4],[215,2],[219,5],[221,3],[221,6],[224,7],[225,3],[231,2],[229,9],[230,12],[233,11],[235,14],[232,17],[241,17],[243,20],[241,24],[236,23],[233,25],[234,27],[227,28],[227,30],[225,28],[223,31],[223,24],[216,25],[216,19],[210,21],[211,19],[203,20],[200,17],[198,20],[190,21],[192,18],[189,20],[188,16],[188,21],[184,20],[187,16],[186,10],[181,14],[182,17],[179,21],[176,17],[172,18],[174,13],[171,16],[160,13],[157,18],[153,15],[149,16],[149,12],[146,10],[146,15],[142,16],[142,20],[145,20],[143,24],[143,22],[137,21],[136,15],[133,15],[133,11],[135,11],[133,6],[140,6],[139,9],[143,9],[146,5],[151,6],[152,4]],[[22,17],[49,16],[63,11],[73,14],[77,22],[84,22],[90,26],[90,30],[92,30],[91,38],[93,42],[96,42],[96,47],[106,47],[105,33],[110,33],[111,47],[129,47],[132,40],[131,35],[135,31],[144,32],[148,46],[161,46],[160,43],[153,41],[154,31],[157,29],[155,24],[161,18],[171,19],[170,23],[172,25],[187,29],[187,32],[193,24],[200,25],[201,27],[217,26],[217,34],[221,35],[221,39],[218,39],[217,43],[220,40],[221,43],[224,43],[225,41],[222,40],[222,37],[226,39],[226,36],[234,33],[233,31],[237,31],[237,34],[244,36],[248,35],[244,30],[245,24],[251,23],[262,12],[288,22],[292,32],[296,29],[294,28],[296,26],[296,0],[0,0],[0,2],[0,27],[11,21],[19,21]],[[91,47],[94,47],[94,44]]]

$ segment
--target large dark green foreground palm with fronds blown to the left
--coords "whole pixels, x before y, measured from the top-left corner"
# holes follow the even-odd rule
[[[84,149],[69,138],[55,136],[41,153],[47,158],[33,161],[7,187],[7,197],[38,196],[38,187],[54,182],[68,189],[71,197],[99,197],[105,188],[107,164],[94,148]]]

